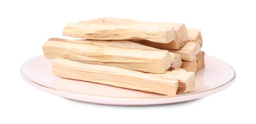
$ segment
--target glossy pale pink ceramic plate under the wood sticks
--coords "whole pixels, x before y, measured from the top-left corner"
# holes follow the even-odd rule
[[[32,86],[61,97],[99,104],[156,105],[190,101],[217,93],[235,81],[235,71],[227,63],[205,56],[205,69],[196,72],[196,87],[174,96],[147,93],[98,83],[55,76],[50,59],[34,57],[21,67],[21,76]]]

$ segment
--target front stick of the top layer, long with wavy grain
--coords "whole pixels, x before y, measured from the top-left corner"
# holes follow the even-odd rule
[[[102,25],[69,23],[64,36],[91,40],[148,40],[169,43],[175,39],[173,26],[160,24]]]

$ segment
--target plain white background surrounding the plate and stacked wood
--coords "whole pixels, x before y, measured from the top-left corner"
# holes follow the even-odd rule
[[[0,1],[0,124],[256,122],[256,4],[249,2],[253,0],[6,1]],[[202,50],[230,64],[236,81],[191,102],[127,107],[68,100],[21,78],[21,64],[42,55],[47,39],[61,38],[65,24],[103,17],[180,22],[201,29]]]

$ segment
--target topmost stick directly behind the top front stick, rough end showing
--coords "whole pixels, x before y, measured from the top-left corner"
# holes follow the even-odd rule
[[[157,42],[149,42],[147,41],[138,41],[141,44],[159,48],[159,49],[171,49],[171,50],[179,50],[184,43],[187,41],[188,32],[186,30],[186,27],[183,23],[160,23],[160,22],[144,22],[144,21],[134,21],[134,20],[128,20],[128,19],[120,19],[120,18],[98,18],[96,20],[90,20],[90,21],[81,21],[79,23],[85,23],[85,24],[102,24],[102,25],[113,25],[113,24],[119,24],[119,25],[129,25],[129,24],[157,24],[162,26],[173,26],[175,31],[175,39],[171,41],[170,43],[157,43]],[[137,40],[131,40],[131,41],[137,41]]]

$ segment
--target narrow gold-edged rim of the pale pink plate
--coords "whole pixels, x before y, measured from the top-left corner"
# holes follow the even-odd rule
[[[43,56],[43,55],[39,55],[39,56],[35,56],[35,57],[32,57],[31,59],[27,60],[26,62],[32,60],[33,58],[36,58],[36,57],[40,57],[40,56]],[[210,56],[210,57],[213,57],[211,55],[206,55],[206,56]],[[213,57],[215,59],[218,59],[216,57]],[[218,59],[219,61],[221,62],[224,62],[220,59]],[[60,90],[60,89],[57,89],[57,88],[53,88],[53,87],[50,87],[50,86],[46,86],[42,83],[38,83],[34,80],[32,80],[31,78],[29,78],[23,71],[22,71],[22,68],[24,66],[24,64],[26,63],[24,62],[22,65],[21,65],[21,69],[20,69],[20,72],[21,72],[21,76],[25,79],[27,79],[28,81],[34,83],[34,84],[37,84],[39,86],[42,86],[44,88],[47,88],[47,89],[50,89],[50,90],[54,90],[54,91],[59,91],[59,92],[66,92],[66,93],[75,93],[75,92],[70,92],[70,91],[66,91],[66,90]],[[230,66],[228,63],[224,62],[225,64],[227,64],[234,72],[234,75],[233,77],[227,81],[226,83],[220,85],[220,86],[217,86],[217,87],[214,87],[214,88],[211,88],[211,89],[207,89],[207,90],[203,90],[203,91],[199,91],[199,92],[192,92],[192,93],[183,93],[183,94],[176,94],[176,95],[163,95],[163,96],[153,96],[153,97],[114,97],[114,96],[102,96],[102,95],[92,95],[92,94],[85,94],[85,93],[75,93],[75,94],[79,94],[79,95],[85,95],[85,96],[93,96],[93,97],[103,97],[103,98],[121,98],[121,99],[161,99],[161,98],[175,98],[175,97],[184,97],[184,96],[190,96],[190,95],[196,95],[196,94],[201,94],[201,93],[206,93],[206,92],[211,92],[211,91],[214,91],[214,90],[217,90],[217,89],[220,89],[222,87],[224,87],[225,85],[228,85],[229,83],[234,83],[233,81],[235,80],[236,78],[236,72],[234,70],[234,68],[232,66]],[[230,84],[230,85],[231,85]],[[227,88],[227,87],[226,87]],[[225,88],[224,88],[225,89]]]

